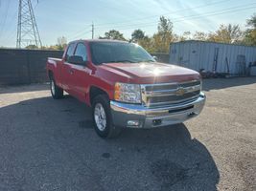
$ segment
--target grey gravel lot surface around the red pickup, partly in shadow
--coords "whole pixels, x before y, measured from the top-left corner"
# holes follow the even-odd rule
[[[256,78],[203,86],[199,117],[116,139],[48,85],[0,88],[0,190],[256,190]]]

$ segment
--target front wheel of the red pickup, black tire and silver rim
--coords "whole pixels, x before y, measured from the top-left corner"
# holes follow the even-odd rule
[[[107,96],[96,96],[92,110],[94,129],[101,138],[116,138],[120,135],[122,129],[113,125]]]

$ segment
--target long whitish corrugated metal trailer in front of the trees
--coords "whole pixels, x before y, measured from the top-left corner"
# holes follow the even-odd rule
[[[256,47],[188,40],[170,45],[170,63],[196,71],[244,75],[256,62]]]

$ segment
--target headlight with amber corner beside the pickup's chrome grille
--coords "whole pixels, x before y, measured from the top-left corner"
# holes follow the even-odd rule
[[[114,98],[127,103],[141,103],[140,85],[116,83]]]

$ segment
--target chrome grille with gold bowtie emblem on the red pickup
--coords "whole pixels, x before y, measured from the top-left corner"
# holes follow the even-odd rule
[[[200,81],[141,85],[142,101],[147,107],[193,101],[200,94]]]

